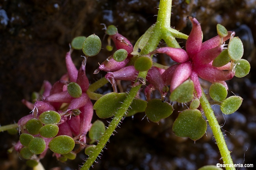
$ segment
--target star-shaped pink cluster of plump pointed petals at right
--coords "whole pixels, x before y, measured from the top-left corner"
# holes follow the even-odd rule
[[[193,28],[186,41],[186,51],[180,48],[162,47],[149,53],[165,53],[169,55],[173,61],[177,62],[169,67],[162,74],[162,78],[166,85],[170,85],[172,92],[176,87],[190,78],[197,92],[197,97],[201,97],[202,91],[199,78],[207,80],[211,83],[219,82],[226,86],[226,80],[234,77],[234,70],[230,68],[230,63],[225,67],[214,67],[212,61],[225,49],[225,42],[234,36],[234,32],[229,31],[228,36],[223,39],[219,36],[213,37],[202,43],[202,30],[200,23],[196,18],[189,17],[193,24]],[[224,71],[223,69],[227,69]]]

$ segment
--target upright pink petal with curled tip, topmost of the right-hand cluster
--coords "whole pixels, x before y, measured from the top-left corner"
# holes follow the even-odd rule
[[[189,19],[192,22],[193,27],[186,42],[186,51],[191,58],[201,49],[202,29],[196,18],[189,17]]]

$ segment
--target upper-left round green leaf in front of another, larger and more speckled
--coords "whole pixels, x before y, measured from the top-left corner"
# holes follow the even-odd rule
[[[101,49],[101,40],[95,34],[88,36],[85,39],[82,46],[83,53],[88,57],[97,55],[100,52],[100,49]]]

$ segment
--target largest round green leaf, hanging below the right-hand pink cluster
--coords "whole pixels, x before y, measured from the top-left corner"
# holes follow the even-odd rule
[[[189,137],[196,141],[206,132],[207,123],[198,109],[182,111],[173,123],[172,131],[176,136]]]

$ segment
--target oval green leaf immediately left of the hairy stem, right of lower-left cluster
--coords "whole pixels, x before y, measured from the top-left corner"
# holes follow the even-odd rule
[[[100,140],[100,137],[105,130],[105,124],[100,120],[96,120],[89,130],[89,138],[92,140],[90,144],[94,143],[95,140]]]

